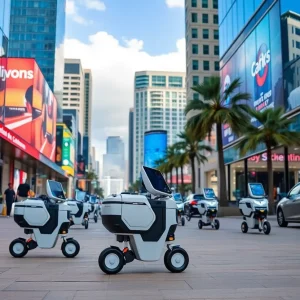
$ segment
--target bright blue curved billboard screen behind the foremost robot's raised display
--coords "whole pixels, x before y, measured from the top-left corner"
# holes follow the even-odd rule
[[[156,161],[163,159],[167,151],[167,131],[152,130],[144,134],[144,166],[156,167]]]

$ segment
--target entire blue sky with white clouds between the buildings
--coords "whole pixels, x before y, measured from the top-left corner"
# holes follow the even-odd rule
[[[66,9],[65,57],[92,70],[92,144],[101,159],[108,136],[128,148],[134,73],[185,71],[184,0],[67,0]]]

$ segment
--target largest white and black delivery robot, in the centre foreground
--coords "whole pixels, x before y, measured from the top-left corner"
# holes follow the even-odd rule
[[[102,223],[124,247],[103,250],[99,266],[106,274],[116,274],[134,259],[158,261],[167,246],[166,268],[183,272],[189,256],[179,245],[172,244],[177,227],[177,205],[171,198],[172,192],[158,170],[144,166],[141,174],[148,195],[121,194],[102,202]]]

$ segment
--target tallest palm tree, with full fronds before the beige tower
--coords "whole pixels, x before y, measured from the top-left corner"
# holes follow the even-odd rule
[[[191,100],[186,108],[186,114],[194,112],[188,120],[187,126],[191,128],[196,138],[203,139],[216,128],[218,164],[219,164],[219,191],[221,206],[226,206],[226,175],[223,154],[222,125],[228,124],[234,134],[240,135],[242,128],[249,124],[248,105],[241,103],[249,100],[248,93],[236,92],[241,86],[239,79],[235,79],[224,92],[221,92],[220,77],[212,76],[208,81],[192,88],[199,93],[203,100]],[[229,104],[227,103],[229,100]]]

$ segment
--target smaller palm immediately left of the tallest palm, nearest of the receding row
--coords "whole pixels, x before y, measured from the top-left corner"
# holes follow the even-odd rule
[[[192,168],[192,192],[196,192],[196,160],[198,164],[207,161],[203,151],[211,152],[213,149],[210,146],[204,145],[197,138],[195,133],[187,128],[184,132],[180,133],[179,138],[181,141],[177,142],[174,147],[183,150],[186,156],[183,156],[183,161],[188,158]]]

